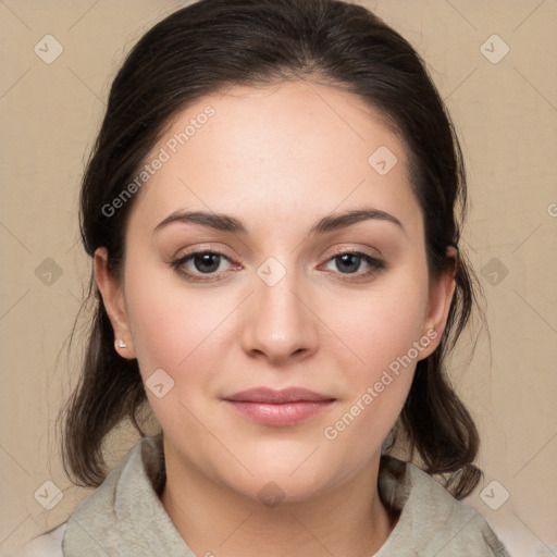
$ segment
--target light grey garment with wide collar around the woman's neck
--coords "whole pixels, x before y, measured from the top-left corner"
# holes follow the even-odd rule
[[[401,475],[382,463],[379,488],[383,500],[401,512],[373,557],[509,557],[476,510],[457,502],[418,467],[396,463]],[[143,438],[75,509],[65,533],[63,528],[57,531],[63,535],[61,546],[25,557],[195,557],[157,495],[163,473],[160,437]],[[42,539],[51,544],[47,536],[34,543]]]

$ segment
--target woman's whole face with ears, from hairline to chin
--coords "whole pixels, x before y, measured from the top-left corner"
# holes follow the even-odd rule
[[[350,94],[237,86],[146,163],[123,280],[103,250],[96,273],[166,460],[253,498],[369,472],[453,293],[430,283],[400,140]]]

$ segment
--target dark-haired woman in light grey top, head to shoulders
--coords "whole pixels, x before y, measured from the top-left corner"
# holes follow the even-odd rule
[[[201,0],[156,25],[82,189],[96,314],[64,458],[97,490],[41,555],[508,555],[458,502],[481,475],[444,367],[473,306],[465,205],[423,63],[366,9]],[[161,433],[106,476],[146,404]]]

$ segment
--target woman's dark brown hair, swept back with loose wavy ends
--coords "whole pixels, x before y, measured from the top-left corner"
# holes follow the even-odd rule
[[[336,0],[201,0],[152,27],[117,73],[85,172],[81,232],[85,250],[109,252],[119,276],[129,199],[114,214],[107,203],[134,180],[165,126],[185,107],[236,84],[264,86],[306,79],[358,95],[405,144],[411,184],[423,211],[430,276],[448,272],[466,207],[462,156],[445,106],[413,48],[367,9]],[[469,494],[481,471],[469,412],[445,374],[447,352],[467,324],[474,288],[462,253],[456,295],[435,352],[418,363],[393,430],[404,434],[431,474],[444,474],[456,497]],[[124,419],[141,432],[146,394],[136,360],[114,350],[114,333],[91,277],[94,318],[85,361],[65,413],[64,467],[76,483],[106,475],[102,444]]]

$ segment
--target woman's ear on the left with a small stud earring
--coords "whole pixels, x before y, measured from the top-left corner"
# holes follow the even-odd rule
[[[98,248],[95,251],[92,264],[95,282],[114,330],[114,348],[123,358],[133,359],[135,350],[124,304],[124,293],[120,281],[109,270],[107,248]],[[120,345],[121,341],[125,346]]]

